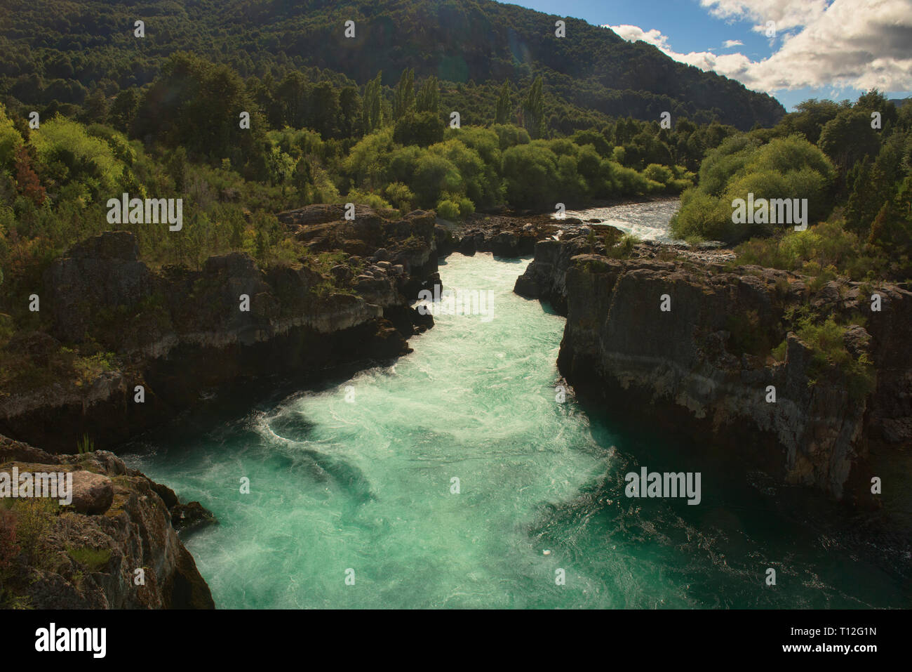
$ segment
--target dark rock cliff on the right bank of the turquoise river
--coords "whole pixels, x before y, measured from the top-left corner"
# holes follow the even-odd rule
[[[857,283],[814,291],[809,278],[769,268],[617,260],[584,247],[538,243],[515,291],[566,315],[560,371],[609,414],[738,451],[782,481],[857,503],[871,499],[872,444],[912,445],[903,345],[912,293],[877,289],[883,310],[872,313]],[[802,307],[845,325],[845,351],[876,369],[873,391],[796,335]]]

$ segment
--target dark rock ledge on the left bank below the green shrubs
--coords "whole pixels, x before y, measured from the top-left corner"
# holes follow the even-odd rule
[[[264,270],[238,252],[210,257],[200,270],[153,271],[128,232],[80,243],[44,277],[50,334],[26,334],[7,348],[41,362],[63,344],[97,341],[118,365],[88,381],[0,396],[0,432],[64,453],[84,435],[113,447],[225,383],[314,379],[410,352],[409,336],[430,324],[409,303],[440,282],[436,217],[388,215],[360,207],[349,222],[336,205],[279,215],[314,255],[329,255],[326,271],[309,263]]]

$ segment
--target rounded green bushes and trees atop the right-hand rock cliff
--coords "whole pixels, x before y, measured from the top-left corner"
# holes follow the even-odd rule
[[[908,105],[897,110],[876,90],[854,104],[806,100],[772,129],[732,135],[707,152],[699,177],[671,223],[680,237],[751,238],[738,247],[741,263],[801,271],[820,285],[837,276],[912,278]],[[806,199],[812,226],[735,224],[732,202],[748,194]]]

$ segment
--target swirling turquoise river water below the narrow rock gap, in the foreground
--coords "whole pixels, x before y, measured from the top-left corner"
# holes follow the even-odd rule
[[[909,604],[895,552],[851,525],[799,523],[756,475],[556,403],[564,320],[513,295],[527,261],[452,255],[445,287],[492,290],[492,320],[438,315],[393,366],[130,457],[221,520],[187,540],[219,607]],[[643,465],[701,471],[702,502],[627,499]]]

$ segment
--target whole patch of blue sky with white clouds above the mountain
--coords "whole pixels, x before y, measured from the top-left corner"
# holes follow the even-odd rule
[[[787,110],[809,98],[912,95],[912,0],[519,0],[613,26],[671,58],[738,79]],[[775,37],[764,32],[775,22]],[[571,37],[571,36],[568,36]],[[726,46],[729,41],[730,46]],[[741,44],[738,44],[741,43]]]

